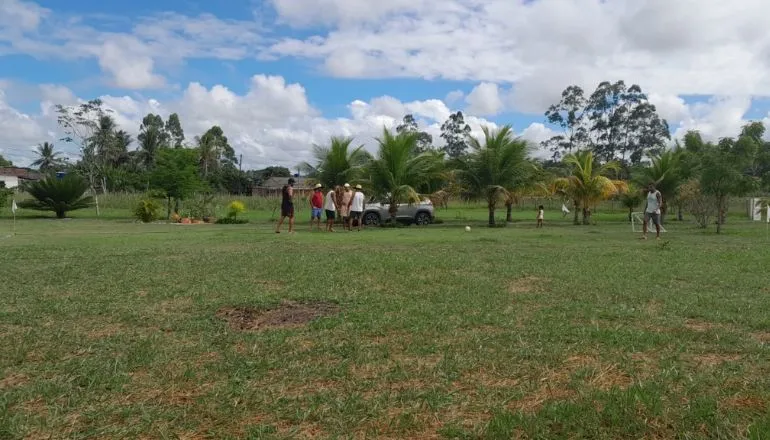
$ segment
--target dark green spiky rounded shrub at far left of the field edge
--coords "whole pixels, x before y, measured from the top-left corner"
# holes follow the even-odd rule
[[[94,198],[84,196],[88,183],[77,174],[67,174],[62,179],[46,177],[29,184],[27,191],[34,198],[19,203],[20,208],[53,211],[56,218],[64,218],[69,211],[93,206]]]

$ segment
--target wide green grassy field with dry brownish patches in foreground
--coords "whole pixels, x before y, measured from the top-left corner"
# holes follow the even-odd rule
[[[0,238],[1,439],[770,438],[765,225],[643,242],[621,210],[294,235],[267,211],[89,216]],[[339,312],[217,316],[285,301]]]

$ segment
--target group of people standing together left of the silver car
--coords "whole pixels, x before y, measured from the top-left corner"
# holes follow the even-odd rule
[[[281,219],[275,228],[275,233],[281,232],[281,225],[285,219],[289,219],[289,232],[294,232],[294,179],[289,179],[281,190]],[[364,193],[361,185],[352,188],[349,183],[329,189],[324,196],[323,185],[315,185],[313,193],[309,197],[310,202],[310,230],[313,224],[321,230],[321,215],[326,215],[326,231],[334,232],[334,223],[337,218],[342,218],[342,227],[352,231],[355,226],[358,231],[363,226]]]

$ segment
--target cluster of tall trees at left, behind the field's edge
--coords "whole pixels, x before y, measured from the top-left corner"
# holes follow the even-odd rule
[[[105,192],[163,189],[154,183],[157,178],[153,179],[158,174],[159,162],[174,162],[181,156],[185,160],[194,158],[201,183],[196,184],[197,189],[243,193],[270,177],[290,175],[284,167],[243,171],[227,136],[216,125],[188,142],[176,113],[165,121],[159,115],[146,115],[134,139],[118,128],[112,111],[98,99],[76,107],[58,105],[56,110],[58,123],[65,133],[62,140],[78,145],[79,159],[70,163],[53,144],[45,142],[38,146],[32,166],[44,174],[55,171],[81,174],[95,196]],[[186,151],[172,159],[166,153],[171,150]]]

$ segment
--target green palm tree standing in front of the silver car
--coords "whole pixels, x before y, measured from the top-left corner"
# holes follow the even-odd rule
[[[395,221],[398,204],[420,201],[415,188],[427,184],[443,171],[443,162],[428,153],[415,155],[419,133],[401,132],[394,135],[383,129],[377,158],[368,167],[375,195],[388,203],[391,221]]]

